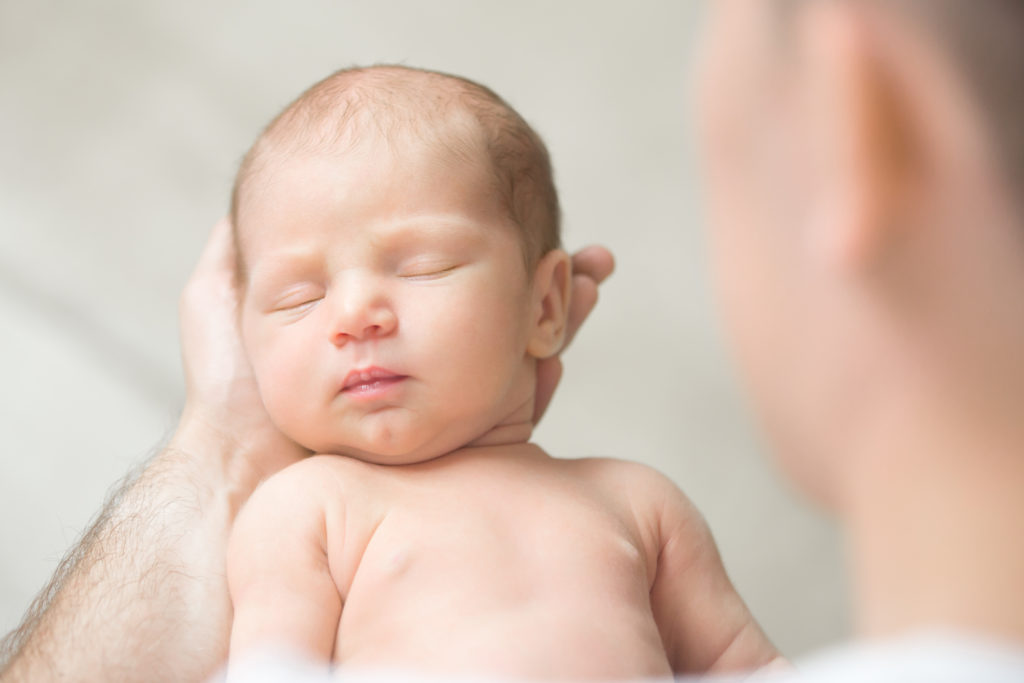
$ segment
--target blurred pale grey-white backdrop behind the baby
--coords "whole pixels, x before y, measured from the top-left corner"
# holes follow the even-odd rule
[[[177,294],[233,170],[354,63],[479,80],[546,138],[570,248],[618,270],[537,434],[669,473],[797,655],[848,632],[836,530],[780,482],[714,311],[689,0],[0,3],[0,631],[173,427]]]

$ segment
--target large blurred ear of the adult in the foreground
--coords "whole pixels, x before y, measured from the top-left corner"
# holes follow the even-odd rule
[[[808,3],[801,76],[819,184],[808,248],[825,267],[859,270],[895,237],[892,220],[912,161],[908,118],[880,50],[867,3]]]

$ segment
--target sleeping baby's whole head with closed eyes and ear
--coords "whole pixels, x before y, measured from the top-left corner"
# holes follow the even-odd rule
[[[231,219],[243,338],[288,436],[393,464],[528,437],[569,263],[544,143],[490,90],[334,74],[257,139]]]

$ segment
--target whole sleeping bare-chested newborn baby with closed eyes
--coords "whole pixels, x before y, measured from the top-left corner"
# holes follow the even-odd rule
[[[529,442],[571,273],[547,151],[501,98],[339,72],[262,133],[231,209],[263,402],[330,454],[238,518],[232,657],[626,679],[776,656],[671,481]]]

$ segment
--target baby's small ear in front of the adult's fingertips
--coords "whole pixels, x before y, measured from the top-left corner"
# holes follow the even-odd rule
[[[572,292],[572,262],[555,249],[544,255],[534,273],[530,331],[526,352],[547,358],[562,348]]]

